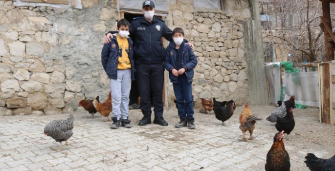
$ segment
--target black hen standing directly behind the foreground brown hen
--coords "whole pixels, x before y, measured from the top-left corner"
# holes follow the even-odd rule
[[[295,125],[294,117],[293,117],[293,109],[290,108],[290,110],[287,112],[286,116],[281,118],[277,116],[277,123],[276,128],[278,131],[284,131],[288,134],[290,139],[290,133],[293,130]]]

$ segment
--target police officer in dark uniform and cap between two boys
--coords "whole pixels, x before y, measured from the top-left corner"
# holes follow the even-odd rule
[[[140,109],[143,113],[139,126],[151,124],[150,92],[153,91],[155,119],[154,124],[168,126],[163,118],[163,84],[165,49],[161,37],[173,42],[172,30],[163,20],[155,18],[155,3],[146,0],[142,4],[143,17],[133,19],[130,24],[130,37],[134,41],[134,60],[136,80],[141,96]],[[105,43],[110,42],[113,32],[106,36]],[[193,44],[189,43],[193,48]]]

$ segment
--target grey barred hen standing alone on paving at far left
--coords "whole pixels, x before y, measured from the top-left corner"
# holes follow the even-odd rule
[[[57,152],[62,150],[62,141],[68,146],[67,140],[73,135],[73,121],[74,118],[70,114],[67,119],[53,120],[45,126],[44,135],[61,143]]]

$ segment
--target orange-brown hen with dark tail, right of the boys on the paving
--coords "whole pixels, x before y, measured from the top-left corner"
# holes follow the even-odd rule
[[[250,137],[249,140],[252,140],[252,131],[255,129],[256,120],[261,120],[254,116],[250,108],[248,107],[248,104],[246,104],[246,107],[242,110],[242,113],[240,114],[240,129],[242,130],[244,136],[243,139],[246,141],[246,131],[249,131]]]

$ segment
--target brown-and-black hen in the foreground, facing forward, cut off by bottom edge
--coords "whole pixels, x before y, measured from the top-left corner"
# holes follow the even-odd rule
[[[284,131],[276,133],[267,154],[265,171],[290,171],[290,156],[284,146]]]

